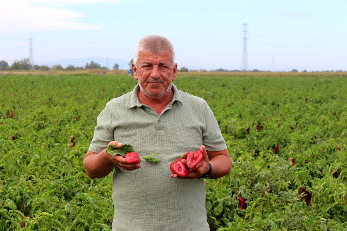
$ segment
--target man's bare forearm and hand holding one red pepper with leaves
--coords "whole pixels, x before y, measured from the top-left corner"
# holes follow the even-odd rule
[[[120,148],[123,144],[117,141],[111,141],[109,145]],[[118,166],[124,170],[135,170],[141,168],[141,164],[129,164],[125,158],[120,155],[112,155],[106,152],[106,149],[99,153],[91,152],[88,150],[84,156],[83,165],[86,169],[86,174],[89,178],[102,178],[110,174],[113,167]]]

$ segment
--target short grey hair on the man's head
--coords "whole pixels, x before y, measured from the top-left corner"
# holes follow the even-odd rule
[[[134,52],[134,64],[136,66],[138,54],[141,51],[149,51],[153,54],[159,54],[161,52],[170,51],[172,54],[172,64],[175,65],[175,50],[174,46],[169,39],[160,35],[147,35],[138,41]]]

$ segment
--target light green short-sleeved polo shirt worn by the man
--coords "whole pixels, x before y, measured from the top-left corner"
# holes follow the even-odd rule
[[[206,101],[172,84],[174,97],[158,115],[132,92],[110,100],[97,118],[89,147],[99,153],[110,141],[131,144],[140,157],[155,152],[158,163],[141,159],[142,167],[115,166],[112,231],[209,231],[203,179],[174,179],[170,163],[188,151],[227,148]]]

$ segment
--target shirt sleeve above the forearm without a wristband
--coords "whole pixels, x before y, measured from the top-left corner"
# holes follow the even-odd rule
[[[102,110],[98,118],[96,118],[98,124],[94,128],[93,140],[89,146],[89,151],[99,153],[105,148],[111,141],[114,141],[113,130],[111,129],[112,115],[108,106]]]

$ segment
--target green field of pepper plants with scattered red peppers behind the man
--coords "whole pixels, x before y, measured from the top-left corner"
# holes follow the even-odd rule
[[[205,179],[211,230],[347,230],[346,75],[179,73],[174,84],[208,102],[233,160],[230,175]],[[0,231],[111,230],[112,175],[89,179],[83,157],[105,104],[137,81],[0,81]]]

